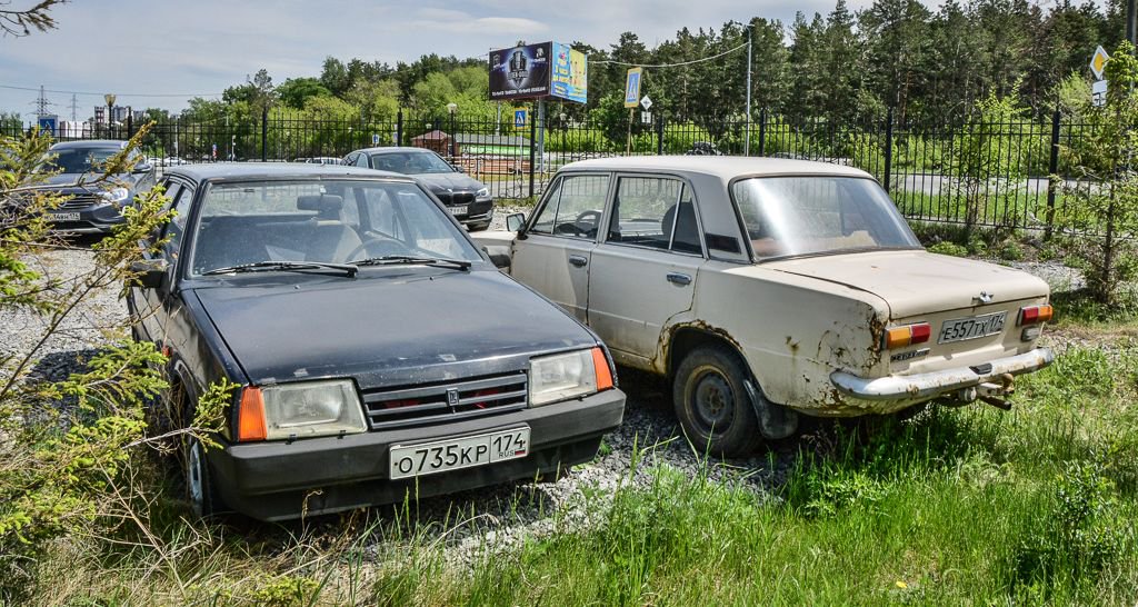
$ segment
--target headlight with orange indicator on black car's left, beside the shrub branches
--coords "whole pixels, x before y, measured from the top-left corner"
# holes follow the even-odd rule
[[[355,386],[348,379],[246,387],[238,440],[307,438],[368,432]]]

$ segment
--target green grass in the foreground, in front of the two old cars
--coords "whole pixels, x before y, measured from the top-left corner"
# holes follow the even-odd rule
[[[551,512],[550,533],[485,536],[470,563],[447,530],[481,512],[191,525],[167,489],[140,508],[154,538],[60,542],[28,602],[1133,605],[1138,344],[1087,330],[1111,347],[1067,348],[1011,412],[822,424],[774,494],[654,468],[586,491],[595,524]]]

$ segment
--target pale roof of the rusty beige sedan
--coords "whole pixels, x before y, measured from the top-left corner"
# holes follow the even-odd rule
[[[744,156],[630,156],[567,164],[562,171],[666,171],[699,173],[731,180],[740,175],[839,175],[873,178],[852,166],[814,161]]]

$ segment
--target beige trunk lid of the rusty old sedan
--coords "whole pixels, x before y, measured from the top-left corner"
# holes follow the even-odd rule
[[[925,251],[890,251],[783,260],[764,268],[817,278],[872,293],[889,304],[893,319],[991,303],[1046,297],[1047,282],[1026,272]]]

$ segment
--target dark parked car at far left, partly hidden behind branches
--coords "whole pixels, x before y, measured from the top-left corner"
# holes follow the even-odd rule
[[[115,140],[66,141],[51,146],[50,156],[40,170],[59,173],[28,190],[47,189],[69,197],[51,213],[52,228],[75,233],[106,233],[123,222],[119,210],[131,204],[135,194],[154,187],[154,166],[135,153],[131,157],[135,163],[132,172],[113,175],[102,183],[93,181],[102,175],[107,159],[125,146],[125,141]]]

